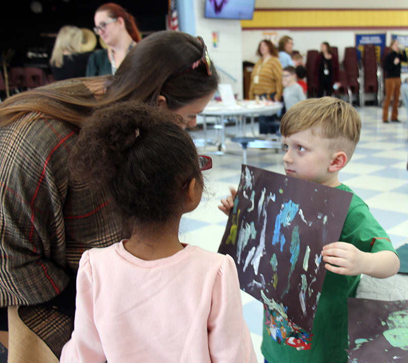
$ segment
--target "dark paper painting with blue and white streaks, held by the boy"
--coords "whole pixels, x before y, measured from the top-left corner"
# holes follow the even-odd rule
[[[277,312],[267,317],[271,334],[298,327],[312,331],[326,273],[320,253],[339,240],[351,197],[343,190],[242,165],[218,252],[234,258],[241,289]],[[285,319],[285,326],[277,323]]]

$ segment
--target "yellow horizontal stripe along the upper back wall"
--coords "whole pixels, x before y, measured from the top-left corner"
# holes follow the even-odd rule
[[[393,10],[269,10],[255,9],[252,20],[241,20],[251,28],[406,28],[408,9]]]

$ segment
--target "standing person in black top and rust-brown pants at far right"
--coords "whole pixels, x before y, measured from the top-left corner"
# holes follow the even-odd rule
[[[405,51],[399,52],[398,40],[394,39],[390,44],[390,53],[384,58],[386,96],[382,106],[382,122],[388,123],[388,111],[392,102],[391,121],[398,120],[398,102],[401,87],[401,62],[407,62]]]

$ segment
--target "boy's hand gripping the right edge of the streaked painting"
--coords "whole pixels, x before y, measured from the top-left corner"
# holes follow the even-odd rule
[[[345,242],[334,242],[323,246],[321,252],[324,267],[335,274],[356,276],[365,271],[365,255],[352,244]]]

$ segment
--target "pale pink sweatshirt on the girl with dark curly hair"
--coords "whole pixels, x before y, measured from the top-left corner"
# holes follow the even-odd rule
[[[123,241],[86,251],[61,363],[256,363],[234,260],[184,246],[153,261]]]

